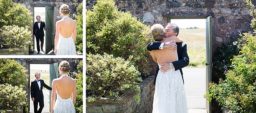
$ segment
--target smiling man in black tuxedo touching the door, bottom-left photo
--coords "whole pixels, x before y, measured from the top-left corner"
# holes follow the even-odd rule
[[[48,90],[52,90],[51,87],[45,84],[44,80],[40,79],[40,73],[35,73],[36,79],[31,82],[30,86],[30,94],[31,99],[34,104],[34,112],[35,113],[41,113],[44,108],[44,95],[43,95],[43,87],[45,87]],[[39,103],[39,109],[37,111],[37,105]]]

